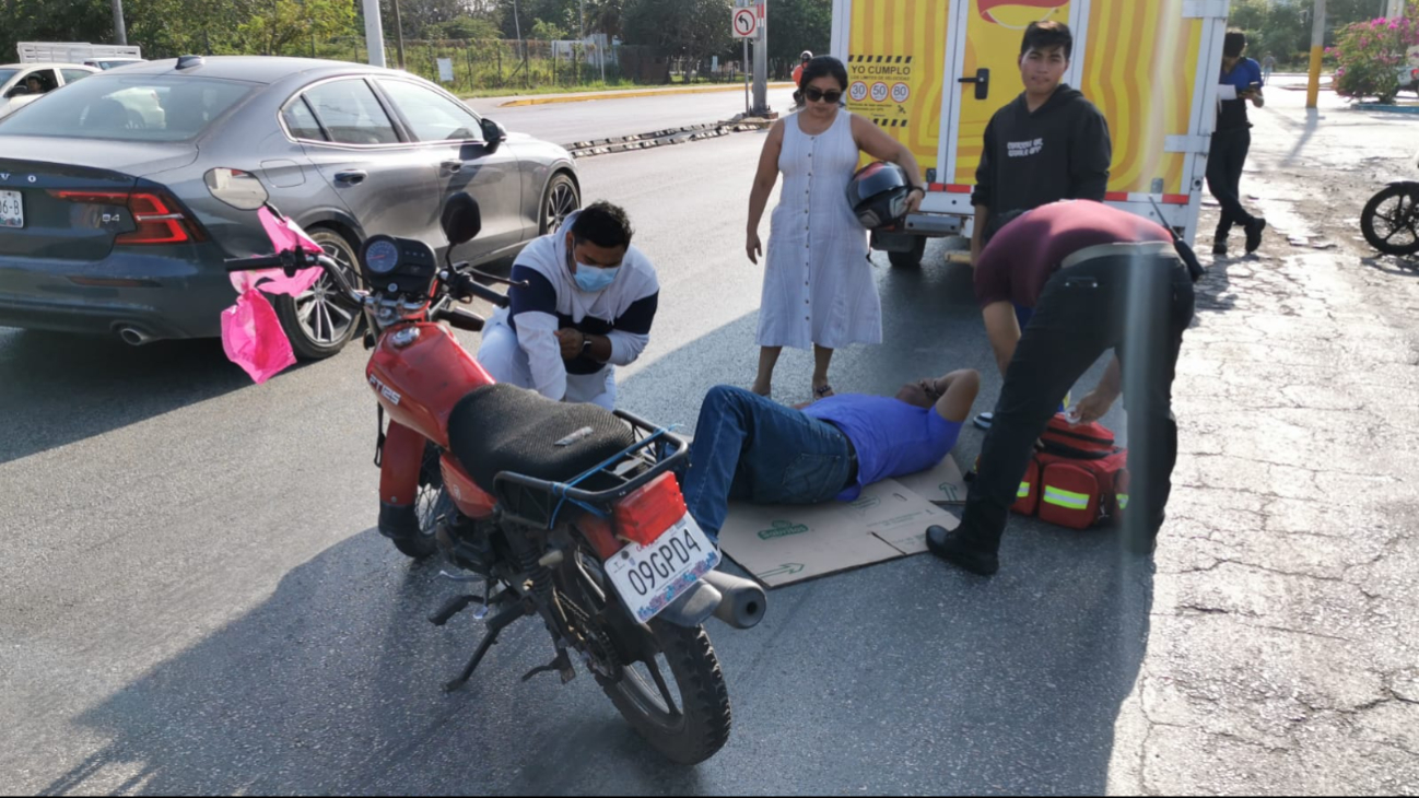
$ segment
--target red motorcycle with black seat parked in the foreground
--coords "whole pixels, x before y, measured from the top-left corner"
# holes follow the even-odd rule
[[[440,322],[480,331],[482,318],[453,300],[507,307],[480,283],[499,278],[451,264],[451,254],[440,266],[423,241],[373,236],[360,251],[360,290],[299,243],[299,229],[254,176],[220,170],[209,186],[257,210],[268,231],[295,233],[294,246],[272,234],[284,251],[227,261],[228,271],[280,268],[292,278],[319,267],[365,311],[366,376],[380,417],[390,416],[376,454],[379,531],[406,555],[441,552],[470,574],[458,581],[482,584],[430,618],[443,626],[477,606],[487,625],[444,689],[461,687],[507,626],[536,616],[555,656],[524,680],[551,672],[566,683],[575,657],[651,747],[683,764],[714,755],[729,737],[729,694],[702,623],[714,615],[752,628],[765,595],[714,569],[719,552],[687,514],[675,480],[688,459],[684,439],[626,412],[497,385]],[[450,197],[450,253],[480,227],[477,202]]]

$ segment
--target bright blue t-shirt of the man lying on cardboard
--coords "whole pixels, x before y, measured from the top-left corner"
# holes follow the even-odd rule
[[[857,449],[857,484],[837,498],[853,501],[863,486],[934,467],[961,434],[935,408],[917,408],[887,396],[840,393],[813,402],[803,413],[829,422]]]

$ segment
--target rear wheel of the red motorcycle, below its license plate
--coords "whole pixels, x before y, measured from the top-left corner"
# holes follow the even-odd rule
[[[596,682],[631,728],[673,763],[697,765],[715,755],[729,741],[732,717],[729,689],[704,626],[684,628],[651,621],[647,626],[653,640],[644,640],[647,645],[614,639],[627,632],[629,621],[604,622],[609,613],[624,613],[626,609],[614,595],[609,595],[614,588],[602,574],[596,557],[579,552],[559,581],[563,595],[569,595],[586,615],[602,619],[596,623],[597,636],[604,636],[609,645],[603,647],[614,650],[619,662],[616,667],[603,667],[602,673],[596,673]],[[640,635],[644,632],[640,630]],[[633,650],[640,652],[636,655],[639,659],[626,662],[631,659],[626,655]]]

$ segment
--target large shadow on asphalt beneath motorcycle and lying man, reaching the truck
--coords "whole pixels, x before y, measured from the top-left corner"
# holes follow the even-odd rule
[[[897,344],[843,352],[840,389],[971,365],[993,396],[969,271],[883,267],[878,280]],[[622,383],[627,409],[692,422],[705,389],[752,376],[755,328],[751,314],[648,364]],[[807,393],[812,358],[795,355],[782,385]],[[660,381],[675,390],[651,390]],[[958,459],[978,447],[969,429]],[[714,623],[735,727],[685,770],[648,751],[587,674],[519,683],[552,655],[536,623],[509,629],[474,682],[443,696],[481,629],[470,613],[430,626],[457,586],[365,531],[57,720],[64,740],[98,740],[78,764],[44,757],[54,741],[43,738],[13,755],[67,768],[47,795],[1103,794],[1148,643],[1151,567],[1111,531],[1022,520],[1002,562],[982,581],[931,557],[898,559],[773,591],[753,630]]]

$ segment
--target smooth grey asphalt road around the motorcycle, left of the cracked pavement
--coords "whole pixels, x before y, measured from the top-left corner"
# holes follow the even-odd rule
[[[759,271],[742,230],[761,142],[582,165],[589,197],[630,210],[664,285],[622,378],[634,412],[692,426],[711,385],[752,378]],[[988,368],[961,267],[877,278],[897,345],[843,352],[840,390]],[[751,632],[717,625],[735,730],[692,771],[648,753],[592,679],[519,683],[552,653],[531,623],[444,697],[480,632],[470,615],[424,622],[455,586],[372,528],[362,366],[356,346],[258,388],[214,341],[0,332],[0,787],[1103,791],[1149,589],[1107,532],[1023,531],[985,591],[920,557],[776,591]],[[809,378],[810,358],[786,355],[779,398],[806,399]]]

